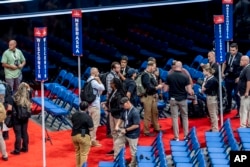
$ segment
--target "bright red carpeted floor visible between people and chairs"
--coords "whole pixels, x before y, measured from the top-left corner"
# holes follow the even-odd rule
[[[232,111],[230,114],[224,116],[224,120],[231,118],[232,128],[236,129],[239,126],[239,118],[234,119],[236,111]],[[166,153],[170,154],[169,141],[173,138],[173,132],[171,129],[171,119],[159,120],[162,129],[167,130],[167,133],[163,135],[165,143]],[[205,146],[204,134],[205,131],[210,129],[210,123],[208,118],[196,118],[189,120],[190,128],[196,126],[198,132],[198,139],[202,145]],[[141,126],[142,128],[142,126]],[[106,127],[100,126],[97,132],[98,140],[102,144],[102,147],[91,148],[88,166],[97,167],[99,161],[112,161],[113,157],[106,155],[108,151],[112,149],[112,139],[106,138]],[[56,131],[48,132],[52,140],[52,144],[49,141],[46,142],[46,167],[74,167],[75,166],[75,154],[74,148],[71,142],[70,131]],[[6,141],[7,151],[9,153],[9,161],[4,162],[0,160],[0,166],[8,167],[43,167],[42,156],[42,129],[41,126],[33,122],[32,119],[29,122],[29,152],[21,153],[20,155],[12,155],[10,151],[14,147],[14,133],[10,129],[10,139]],[[237,133],[235,133],[237,138]],[[182,129],[180,129],[180,138],[183,138]],[[154,140],[154,137],[145,137],[143,135],[139,138],[139,145],[149,145]],[[130,159],[129,149],[126,149],[126,158]]]

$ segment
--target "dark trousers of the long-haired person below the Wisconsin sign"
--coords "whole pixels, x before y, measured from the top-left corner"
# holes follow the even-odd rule
[[[20,152],[21,145],[22,149],[28,150],[29,135],[28,135],[28,121],[15,124],[13,126],[16,141],[15,141],[15,151]]]

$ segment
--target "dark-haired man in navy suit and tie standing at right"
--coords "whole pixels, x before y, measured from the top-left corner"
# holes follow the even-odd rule
[[[234,90],[234,98],[237,104],[237,115],[239,117],[240,109],[240,98],[237,94],[238,92],[238,80],[241,71],[240,59],[242,53],[238,52],[237,43],[232,43],[229,48],[229,52],[226,54],[226,61],[222,64],[222,78],[225,81],[225,87],[227,90],[227,106],[225,112],[231,111],[232,107],[232,91]]]

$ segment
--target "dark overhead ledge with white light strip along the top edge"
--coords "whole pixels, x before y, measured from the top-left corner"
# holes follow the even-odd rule
[[[88,13],[208,1],[212,0],[1,0],[0,20],[71,14],[72,9]]]

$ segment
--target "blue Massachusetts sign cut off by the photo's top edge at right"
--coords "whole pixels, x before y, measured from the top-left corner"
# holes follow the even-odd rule
[[[225,18],[225,41],[233,40],[233,0],[222,0],[222,12]]]

